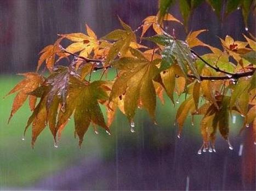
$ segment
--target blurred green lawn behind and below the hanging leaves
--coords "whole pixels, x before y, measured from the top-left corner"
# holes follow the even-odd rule
[[[110,71],[109,76],[114,76],[115,72]],[[93,75],[93,79],[99,79],[100,73]],[[115,141],[118,139],[127,140],[127,144],[136,145],[141,134],[147,131],[147,126],[155,129],[155,134],[150,134],[152,144],[169,144],[170,132],[176,132],[173,127],[175,114],[178,105],[174,106],[166,98],[166,103],[162,105],[157,100],[156,117],[158,126],[155,126],[149,115],[144,110],[137,110],[135,116],[136,133],[130,133],[128,120],[121,112],[118,112],[117,119],[111,127],[112,135],[105,133],[104,129],[99,128],[99,135],[96,136],[93,128],[89,128],[85,135],[82,147],[78,147],[78,140],[73,138],[73,121],[71,120],[64,129],[58,148],[54,148],[53,138],[50,131],[45,128],[37,139],[35,149],[31,148],[31,128],[26,134],[26,140],[22,141],[22,135],[26,126],[27,118],[31,115],[28,103],[14,115],[10,124],[7,124],[12,102],[15,95],[2,99],[16,83],[20,81],[20,76],[0,76],[0,189],[14,187],[28,187],[48,175],[67,166],[75,165],[84,158],[96,157],[99,159],[113,159]],[[104,79],[103,79],[104,80]],[[180,99],[180,103],[183,99]],[[185,123],[183,136],[189,139],[196,139],[198,146],[201,144],[200,117],[195,117],[195,126],[191,126],[190,117]],[[237,120],[236,127],[241,125],[241,120]],[[234,126],[234,124],[233,124]],[[234,130],[232,130],[234,129]],[[118,130],[118,131],[117,131]],[[231,128],[231,134],[237,134],[237,128]],[[175,138],[175,133],[172,137]],[[188,143],[189,144],[189,143]],[[195,151],[196,152],[196,151]]]

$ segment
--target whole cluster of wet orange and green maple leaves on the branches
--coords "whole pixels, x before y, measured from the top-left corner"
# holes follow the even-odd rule
[[[206,30],[190,32],[186,40],[178,40],[164,31],[163,25],[166,21],[182,23],[171,14],[158,22],[160,15],[161,12],[146,17],[143,25],[134,31],[120,19],[123,29],[116,29],[102,38],[96,37],[86,25],[87,34],[60,34],[53,45],[40,52],[37,72],[23,74],[25,79],[8,93],[18,92],[10,118],[26,98],[30,98],[33,112],[25,132],[32,124],[32,146],[46,126],[55,141],[56,137],[60,138],[72,115],[79,145],[90,124],[96,134],[97,126],[110,134],[117,109],[127,116],[132,127],[138,108],[146,109],[156,123],[156,99],[164,103],[164,93],[174,105],[174,94],[186,95],[176,116],[179,134],[187,116],[203,116],[203,147],[210,152],[215,151],[217,130],[228,140],[232,115],[242,115],[244,127],[253,122],[256,132],[255,38],[244,35],[246,41],[242,42],[226,36],[220,39],[223,50],[198,39]],[[150,27],[156,35],[144,37]],[[143,42],[153,42],[152,47],[138,43],[135,32],[140,28],[140,38]],[[64,39],[71,41],[66,48],[61,46]],[[211,53],[199,56],[192,50],[196,46]],[[70,62],[69,66],[58,64],[63,58]],[[38,73],[43,64],[49,70],[47,77]],[[115,79],[102,80],[111,68],[116,69]],[[95,70],[100,70],[102,75],[92,81]],[[106,109],[107,122],[100,105]]]

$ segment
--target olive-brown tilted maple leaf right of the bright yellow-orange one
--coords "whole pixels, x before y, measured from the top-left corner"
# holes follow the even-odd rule
[[[125,30],[116,29],[105,35],[103,39],[116,40],[110,47],[109,53],[106,58],[106,63],[110,63],[120,53],[123,56],[129,49],[131,42],[136,42],[136,36],[126,23],[119,18],[121,25]]]

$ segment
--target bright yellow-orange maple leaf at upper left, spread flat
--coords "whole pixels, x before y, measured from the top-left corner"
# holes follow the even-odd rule
[[[86,25],[86,31],[88,35],[83,33],[61,34],[61,37],[75,42],[67,46],[66,51],[71,53],[80,52],[79,56],[88,57],[93,50],[98,50],[100,41],[96,34],[88,25]]]

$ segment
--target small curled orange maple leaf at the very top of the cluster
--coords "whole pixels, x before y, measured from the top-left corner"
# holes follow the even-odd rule
[[[146,33],[146,31],[152,26],[154,31],[157,34],[163,34],[161,27],[163,27],[163,23],[160,25],[157,21],[159,17],[159,13],[156,16],[148,16],[143,20],[143,27],[142,27],[142,32],[141,32],[141,38],[144,36],[144,34]],[[175,22],[179,22],[181,25],[182,23],[176,19],[173,15],[171,14],[166,14],[163,17],[164,21],[175,21]]]

